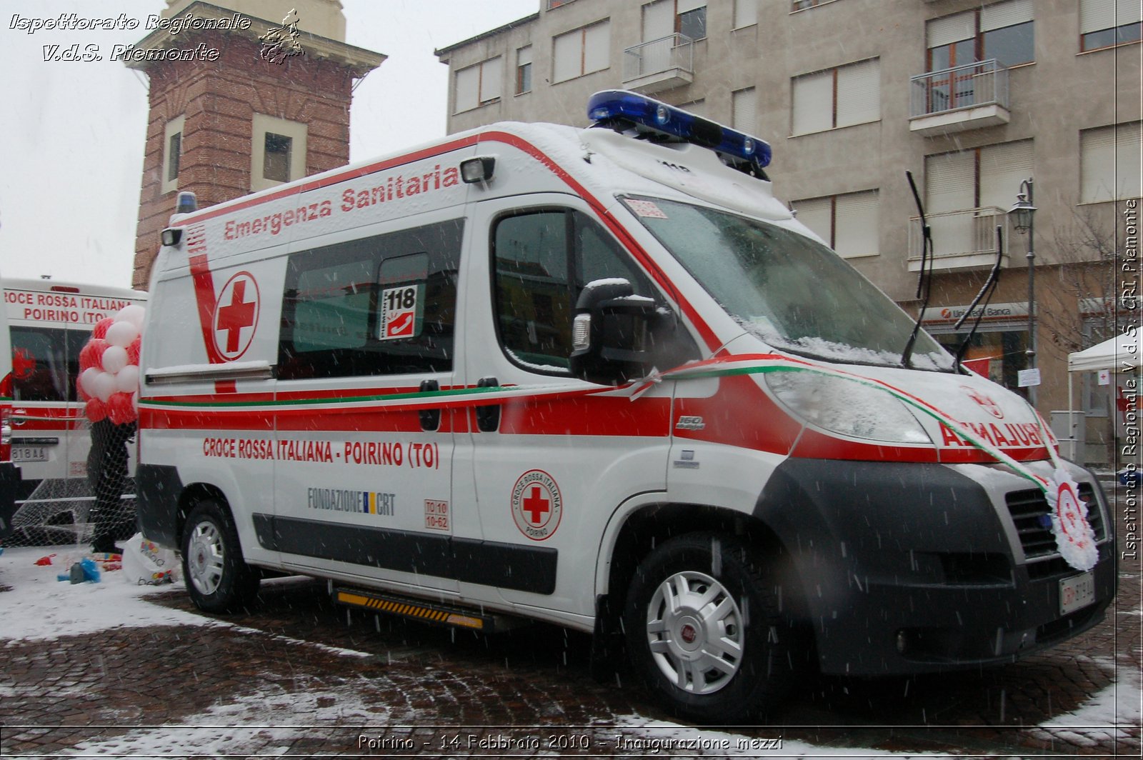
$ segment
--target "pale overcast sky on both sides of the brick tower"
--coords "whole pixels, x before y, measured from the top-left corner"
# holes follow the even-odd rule
[[[221,5],[221,3],[219,3]],[[342,0],[346,42],[389,56],[354,91],[350,160],[445,135],[448,67],[433,50],[535,13],[539,0]],[[165,0],[0,3],[0,275],[130,285],[147,81],[112,62]],[[14,29],[21,18],[137,18],[134,31]],[[304,19],[303,31],[304,31]],[[45,62],[97,45],[103,61]]]

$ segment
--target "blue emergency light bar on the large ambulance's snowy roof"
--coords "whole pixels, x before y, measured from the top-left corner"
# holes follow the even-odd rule
[[[601,125],[632,122],[655,133],[709,147],[735,162],[759,167],[770,162],[764,139],[696,117],[693,113],[629,90],[601,90],[588,99],[588,118]]]

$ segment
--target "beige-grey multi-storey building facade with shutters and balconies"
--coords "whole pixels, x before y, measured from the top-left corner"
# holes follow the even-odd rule
[[[1116,272],[1141,195],[1137,0],[538,1],[437,51],[449,131],[586,126],[589,95],[612,88],[685,106],[768,141],[775,194],[916,314],[910,171],[933,239],[926,327],[950,347],[967,335],[954,323],[999,225],[999,287],[966,357],[1013,389],[1039,369],[1022,392],[1086,439],[1078,458],[1113,462],[1114,381],[1077,378],[1086,414],[1069,427],[1062,410],[1068,353],[1138,320]],[[1023,234],[1007,214],[1021,192],[1038,209]]]

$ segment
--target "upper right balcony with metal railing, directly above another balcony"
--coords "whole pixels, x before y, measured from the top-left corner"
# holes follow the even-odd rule
[[[1008,123],[1008,69],[996,58],[909,80],[909,129],[932,137]]]

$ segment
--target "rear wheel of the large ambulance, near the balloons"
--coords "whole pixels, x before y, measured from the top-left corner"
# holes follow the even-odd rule
[[[223,504],[205,499],[183,529],[183,577],[205,613],[237,613],[258,593],[261,575],[242,559],[234,521]]]

